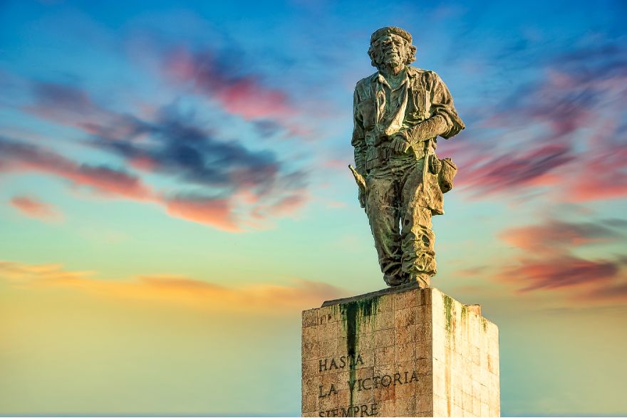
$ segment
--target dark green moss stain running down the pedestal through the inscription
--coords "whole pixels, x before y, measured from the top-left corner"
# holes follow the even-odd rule
[[[349,361],[349,380],[348,393],[350,395],[349,411],[353,410],[353,390],[357,382],[357,364],[354,359],[357,358],[357,346],[359,343],[359,330],[364,322],[374,325],[373,315],[376,315],[379,305],[379,296],[374,298],[363,299],[361,301],[352,301],[339,305],[342,314],[342,324],[346,330],[346,353],[353,361]]]

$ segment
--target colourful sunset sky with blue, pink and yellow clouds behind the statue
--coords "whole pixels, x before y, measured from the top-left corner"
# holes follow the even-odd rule
[[[384,287],[346,166],[370,35],[466,129],[432,286],[504,416],[627,414],[624,1],[3,1],[0,414],[300,414],[301,310]]]

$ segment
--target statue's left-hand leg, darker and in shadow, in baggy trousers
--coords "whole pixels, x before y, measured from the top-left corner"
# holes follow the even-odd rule
[[[366,178],[366,188],[366,213],[375,239],[383,280],[388,286],[398,286],[403,283],[398,228],[398,181],[390,174],[371,175]]]

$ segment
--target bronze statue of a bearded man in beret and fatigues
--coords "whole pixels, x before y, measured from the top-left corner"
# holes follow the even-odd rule
[[[464,129],[440,77],[409,66],[415,52],[407,31],[375,31],[368,55],[378,71],[359,80],[353,99],[353,174],[365,179],[359,201],[388,286],[430,285],[436,272],[431,216],[444,213],[442,192],[452,187],[446,175],[450,180],[456,169],[435,157],[436,138]]]

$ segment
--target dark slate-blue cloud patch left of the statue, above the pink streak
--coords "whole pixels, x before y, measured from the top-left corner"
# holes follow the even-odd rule
[[[93,147],[119,155],[135,167],[198,184],[213,192],[247,190],[258,197],[304,185],[306,174],[286,169],[271,150],[249,150],[237,141],[218,140],[192,120],[164,108],[151,122],[150,140],[95,135]]]

